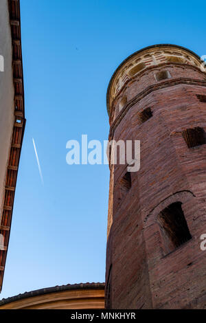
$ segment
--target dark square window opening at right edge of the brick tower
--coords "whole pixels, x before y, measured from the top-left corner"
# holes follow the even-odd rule
[[[196,126],[196,128],[192,129],[186,129],[182,132],[182,135],[188,148],[206,144],[205,130],[199,126]]]

